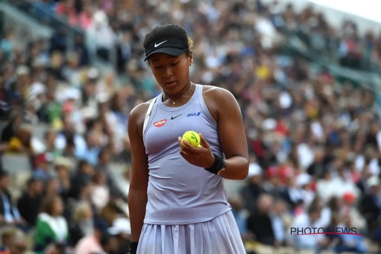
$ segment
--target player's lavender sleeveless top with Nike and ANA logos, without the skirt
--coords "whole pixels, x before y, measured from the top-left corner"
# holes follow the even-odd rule
[[[192,98],[177,108],[165,106],[161,93],[143,133],[149,168],[145,224],[201,223],[231,210],[223,178],[188,163],[180,155],[178,137],[186,131],[201,133],[213,153],[224,155],[202,85],[195,85]]]

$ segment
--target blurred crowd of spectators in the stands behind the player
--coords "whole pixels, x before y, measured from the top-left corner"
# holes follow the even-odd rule
[[[195,41],[193,82],[241,107],[247,253],[380,253],[381,25],[302,0],[0,1],[0,253],[128,253],[126,126],[161,93],[142,40],[164,22]]]

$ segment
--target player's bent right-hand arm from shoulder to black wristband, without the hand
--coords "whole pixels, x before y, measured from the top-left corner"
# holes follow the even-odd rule
[[[217,114],[219,143],[226,156],[226,169],[220,176],[242,180],[247,177],[249,155],[241,110],[233,94],[223,88],[214,88],[206,95],[212,99]]]

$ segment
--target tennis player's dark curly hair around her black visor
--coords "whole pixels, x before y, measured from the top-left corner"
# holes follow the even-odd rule
[[[193,40],[188,37],[183,27],[174,23],[159,25],[151,29],[144,37],[143,47],[146,48],[152,42],[168,38],[187,42],[189,50],[186,50],[185,53],[187,56],[189,55],[190,50],[193,48]]]

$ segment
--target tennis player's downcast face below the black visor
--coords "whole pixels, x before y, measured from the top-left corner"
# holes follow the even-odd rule
[[[156,53],[148,59],[153,76],[157,83],[168,94],[179,93],[189,83],[189,66],[193,62],[193,54],[185,53],[171,56]]]

